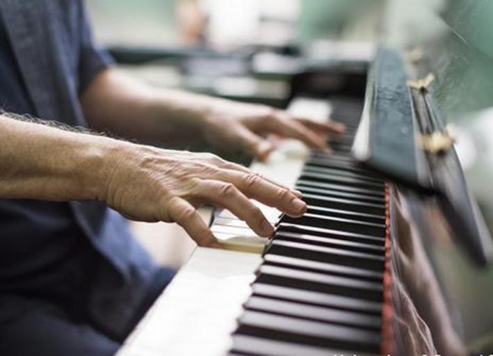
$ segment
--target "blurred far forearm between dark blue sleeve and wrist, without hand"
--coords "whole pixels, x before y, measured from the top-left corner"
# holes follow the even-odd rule
[[[157,145],[201,139],[204,117],[219,100],[152,88],[114,69],[100,73],[81,95],[93,129]]]

